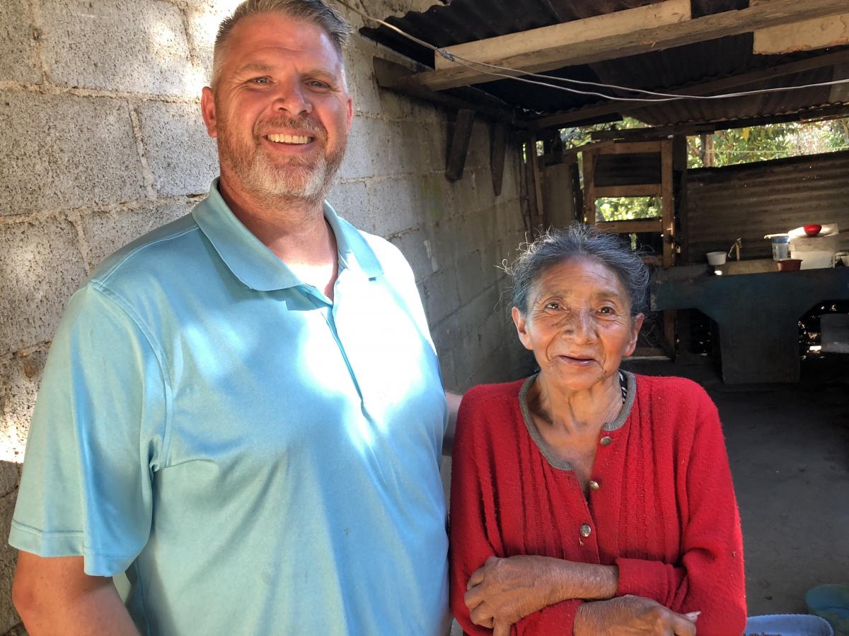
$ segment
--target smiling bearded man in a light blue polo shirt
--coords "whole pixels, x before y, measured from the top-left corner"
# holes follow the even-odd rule
[[[424,311],[323,204],[347,33],[321,0],[243,3],[203,95],[220,180],[71,298],[9,538],[33,636],[446,633]]]

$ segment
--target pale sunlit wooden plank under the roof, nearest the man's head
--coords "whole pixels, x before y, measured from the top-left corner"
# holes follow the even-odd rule
[[[512,58],[523,53],[533,53],[544,48],[573,46],[602,37],[622,36],[632,31],[672,25],[690,19],[689,0],[664,0],[644,7],[629,8],[610,14],[601,14],[583,20],[572,20],[558,25],[543,26],[532,31],[490,37],[486,40],[456,44],[450,47],[453,55],[476,62],[495,64],[499,59]],[[456,63],[434,53],[434,68],[450,69]]]

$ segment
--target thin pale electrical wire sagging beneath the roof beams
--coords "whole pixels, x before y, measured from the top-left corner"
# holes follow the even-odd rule
[[[738,97],[746,97],[750,95],[761,95],[764,93],[773,93],[773,92],[784,92],[784,91],[796,91],[801,90],[803,88],[818,88],[823,86],[835,86],[839,84],[849,84],[849,78],[841,79],[841,80],[832,80],[832,81],[821,81],[815,82],[811,84],[802,84],[799,86],[778,86],[775,88],[762,88],[754,91],[739,91],[739,92],[728,92],[722,93],[719,95],[687,95],[681,93],[668,93],[668,92],[655,92],[655,91],[646,91],[641,88],[633,88],[629,86],[616,86],[615,84],[605,84],[603,82],[595,82],[595,81],[586,81],[586,80],[574,80],[567,77],[557,77],[556,75],[543,75],[539,73],[531,73],[525,70],[511,69],[506,66],[498,66],[498,64],[487,64],[486,62],[479,62],[474,59],[466,59],[457,53],[452,53],[447,48],[436,47],[430,42],[424,42],[424,40],[413,36],[402,29],[399,29],[395,25],[391,25],[385,20],[380,20],[378,18],[374,18],[371,15],[363,13],[357,8],[351,7],[350,4],[346,3],[344,0],[336,0],[336,2],[340,3],[343,7],[350,9],[354,13],[360,15],[366,20],[372,20],[379,25],[385,26],[387,29],[391,31],[396,31],[399,35],[407,38],[408,40],[419,44],[421,47],[425,47],[433,51],[434,53],[440,55],[441,57],[454,62],[455,64],[460,64],[465,68],[470,70],[476,70],[478,72],[484,73],[485,75],[492,75],[493,77],[501,77],[503,79],[521,81],[526,84],[534,84],[537,86],[545,86],[547,88],[553,88],[559,91],[571,92],[577,95],[588,95],[592,97],[599,97],[604,99],[610,99],[612,101],[617,102],[649,102],[649,103],[663,103],[663,102],[672,102],[677,101],[679,99],[695,99],[695,100],[711,100],[711,99],[727,99],[727,98],[738,98]],[[485,70],[485,69],[476,69],[475,65],[486,67],[486,69],[494,69],[494,70]],[[498,72],[501,71],[501,72]],[[517,75],[526,75],[526,76],[517,76]],[[568,86],[558,86],[551,84],[547,81],[536,81],[527,79],[528,77],[535,77],[537,79],[542,80],[552,80],[552,81],[562,81],[562,82],[570,82],[573,84],[578,84],[582,86],[598,86],[600,88],[610,88],[615,91],[625,91],[625,92],[636,92],[644,95],[653,95],[656,98],[623,98],[616,95],[608,95],[606,93],[595,92],[595,91],[582,91],[577,88],[570,88]]]

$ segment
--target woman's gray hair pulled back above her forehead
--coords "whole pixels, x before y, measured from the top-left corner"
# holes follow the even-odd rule
[[[526,314],[528,297],[540,273],[569,259],[594,259],[619,277],[631,300],[631,315],[644,314],[649,304],[649,268],[643,254],[633,252],[616,234],[605,234],[585,223],[549,230],[520,248],[520,254],[504,269],[513,278],[513,306]]]

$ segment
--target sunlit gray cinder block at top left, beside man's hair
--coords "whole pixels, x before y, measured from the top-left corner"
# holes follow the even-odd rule
[[[180,10],[166,2],[45,0],[44,55],[60,86],[196,95]]]

